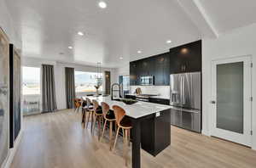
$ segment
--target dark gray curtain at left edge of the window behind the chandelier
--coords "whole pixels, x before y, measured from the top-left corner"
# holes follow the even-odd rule
[[[65,83],[66,83],[66,100],[67,109],[73,109],[73,99],[76,97],[75,81],[74,81],[74,69],[65,68]]]

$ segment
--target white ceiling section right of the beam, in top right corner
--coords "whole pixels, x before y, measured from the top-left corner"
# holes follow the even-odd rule
[[[200,0],[218,33],[256,22],[255,0]]]

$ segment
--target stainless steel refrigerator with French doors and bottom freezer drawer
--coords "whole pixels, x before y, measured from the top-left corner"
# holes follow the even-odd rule
[[[170,75],[171,123],[201,132],[201,72]]]

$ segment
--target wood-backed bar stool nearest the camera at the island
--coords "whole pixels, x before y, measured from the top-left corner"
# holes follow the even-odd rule
[[[124,158],[125,165],[128,165],[128,143],[130,143],[130,133],[131,133],[131,120],[125,117],[125,109],[120,108],[118,105],[113,105],[113,114],[115,116],[116,123],[118,125],[118,130],[116,132],[116,137],[113,143],[113,151],[116,145],[117,138],[119,136],[119,128],[123,129],[123,140],[124,140]]]

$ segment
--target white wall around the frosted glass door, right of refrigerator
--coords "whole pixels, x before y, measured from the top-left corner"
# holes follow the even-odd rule
[[[202,41],[202,133],[210,135],[212,114],[212,59],[252,55],[253,58],[253,148],[256,149],[256,24],[241,27],[217,39]]]

